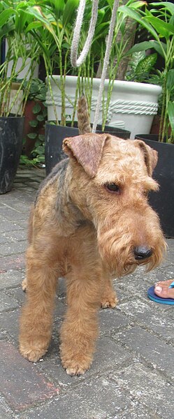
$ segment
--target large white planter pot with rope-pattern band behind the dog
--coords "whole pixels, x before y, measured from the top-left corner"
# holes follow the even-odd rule
[[[92,106],[90,120],[94,122],[94,113],[96,110],[96,102],[99,94],[100,79],[93,79],[92,90]],[[55,98],[58,119],[61,119],[61,93],[57,84],[60,82],[59,75],[50,78],[52,91]],[[66,116],[71,120],[73,115],[73,103],[75,98],[75,89],[77,77],[66,76]],[[108,80],[105,82],[105,92],[107,94]],[[124,128],[131,131],[131,138],[137,133],[150,133],[154,115],[158,110],[158,98],[161,93],[161,87],[154,84],[122,82],[115,80],[110,105],[108,109],[108,117],[106,124]],[[69,99],[69,100],[68,100]],[[52,105],[50,91],[48,89],[46,95],[46,104],[48,105],[48,121],[55,119],[55,112]],[[101,104],[102,110],[102,104]],[[99,124],[102,122],[101,112],[99,115]],[[77,118],[75,118],[77,120]]]

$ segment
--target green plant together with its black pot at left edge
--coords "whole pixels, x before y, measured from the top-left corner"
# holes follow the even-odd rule
[[[10,7],[9,7],[10,6]],[[5,37],[7,44],[6,60],[0,66],[0,193],[10,191],[17,171],[22,150],[24,126],[24,107],[29,86],[38,59],[39,47],[31,34],[27,34],[27,14],[24,19],[20,1],[3,1],[0,5],[0,41]],[[10,75],[8,69],[11,67]],[[10,94],[13,82],[25,75],[15,86],[15,94]],[[24,83],[27,82],[25,90]],[[14,107],[14,105],[16,105]],[[13,113],[15,112],[15,113]]]

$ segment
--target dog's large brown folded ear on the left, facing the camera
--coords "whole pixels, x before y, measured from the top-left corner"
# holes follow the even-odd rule
[[[87,175],[94,177],[99,168],[103,147],[108,134],[87,133],[78,137],[65,138],[63,150],[69,157],[75,158]]]

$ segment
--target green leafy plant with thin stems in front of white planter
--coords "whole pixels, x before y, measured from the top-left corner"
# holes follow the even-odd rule
[[[55,110],[55,118],[57,124],[59,123],[55,101],[52,94],[52,86],[50,78],[57,69],[60,75],[60,82],[58,87],[61,91],[61,125],[66,124],[66,110],[65,110],[65,82],[66,75],[78,75],[77,89],[75,91],[75,102],[73,103],[73,119],[75,116],[75,109],[78,100],[78,91],[85,91],[89,102],[89,108],[92,98],[92,83],[93,78],[97,75],[99,66],[103,64],[103,57],[106,51],[106,35],[110,25],[110,17],[113,8],[113,0],[101,0],[100,9],[98,13],[98,20],[92,47],[87,55],[85,64],[80,68],[71,68],[70,64],[70,50],[73,35],[73,25],[75,19],[75,10],[78,7],[79,0],[45,0],[44,2],[38,1],[37,6],[29,6],[27,13],[29,13],[33,20],[28,26],[28,31],[34,36],[38,45],[42,50],[43,59],[45,62],[45,69],[47,73],[47,82],[50,89],[50,96]],[[143,6],[144,1],[129,0],[127,5],[136,10]],[[89,30],[89,19],[91,17],[91,0],[86,2],[84,24],[82,26],[80,36],[80,50],[87,38],[87,31]],[[107,98],[103,98],[103,124],[106,123],[108,115],[108,107],[110,103],[110,96],[113,90],[113,82],[117,75],[117,70],[120,61],[126,54],[125,42],[127,17],[118,10],[117,20],[115,24],[115,34],[113,37],[112,51],[110,54],[110,64],[108,71],[108,78],[110,80]],[[117,42],[117,36],[119,41]],[[70,100],[69,100],[70,101]],[[71,102],[71,101],[70,101]]]

